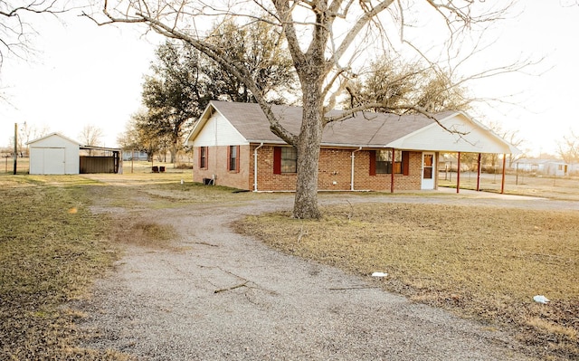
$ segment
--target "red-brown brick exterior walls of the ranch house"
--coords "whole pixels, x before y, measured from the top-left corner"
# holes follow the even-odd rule
[[[259,145],[240,147],[240,170],[227,170],[227,148],[208,147],[207,168],[199,169],[199,148],[194,149],[194,182],[216,176],[215,185],[253,190],[254,157]],[[258,191],[294,191],[295,174],[273,173],[272,146],[258,149]],[[321,191],[351,190],[352,152],[354,149],[322,148],[319,155],[318,189]],[[438,155],[437,155],[438,156]],[[354,190],[390,191],[392,176],[378,174],[370,176],[370,152],[360,150],[354,153]],[[409,152],[408,176],[394,175],[394,191],[419,190],[422,185],[422,152]],[[438,172],[435,172],[438,176]],[[435,185],[438,183],[435,180]]]

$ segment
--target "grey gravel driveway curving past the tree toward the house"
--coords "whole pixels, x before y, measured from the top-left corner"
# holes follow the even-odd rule
[[[320,195],[320,203],[346,198],[375,201]],[[482,195],[388,201],[394,199],[562,206]],[[81,305],[88,315],[81,327],[95,332],[87,346],[139,360],[529,359],[496,329],[384,292],[370,277],[272,251],[229,227],[243,214],[288,209],[291,203],[287,195],[139,210],[140,219],[172,224],[179,237],[170,248],[128,246],[116,271]]]

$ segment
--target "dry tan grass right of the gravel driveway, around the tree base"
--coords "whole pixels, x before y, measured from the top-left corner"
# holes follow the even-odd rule
[[[437,307],[514,327],[541,356],[579,357],[579,214],[442,204],[324,209],[321,222],[289,214],[236,227],[271,246],[375,280]],[[548,305],[532,297],[544,294]],[[494,325],[494,326],[493,326]]]

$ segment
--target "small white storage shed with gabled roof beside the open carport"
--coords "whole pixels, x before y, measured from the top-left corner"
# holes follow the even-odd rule
[[[28,142],[31,175],[78,175],[81,144],[59,133]]]

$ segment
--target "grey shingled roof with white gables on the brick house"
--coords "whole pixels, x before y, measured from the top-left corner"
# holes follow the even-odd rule
[[[271,110],[280,124],[299,134],[302,108],[272,105]],[[285,144],[271,133],[270,123],[260,106],[253,103],[235,103],[212,100],[204,115],[187,138],[195,139],[204,123],[217,112],[230,122],[249,143]],[[340,114],[333,110],[329,116]],[[434,120],[436,119],[436,121]],[[396,115],[389,113],[359,112],[343,121],[327,124],[322,136],[322,147],[395,147],[397,149],[422,149],[431,151],[463,151],[472,153],[519,153],[507,141],[470,119],[459,111],[446,111],[434,119],[421,114]],[[451,133],[441,128],[437,121]]]

